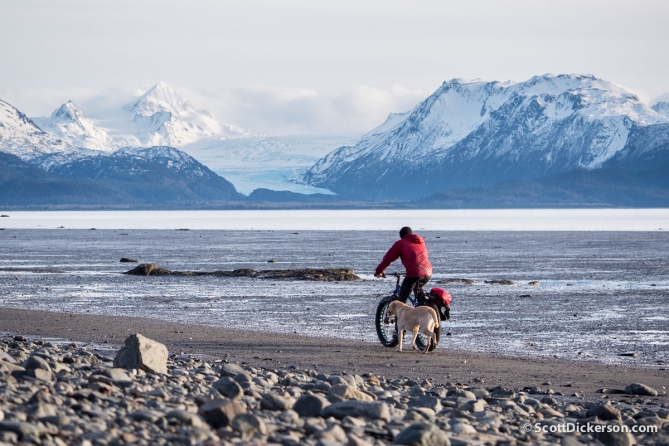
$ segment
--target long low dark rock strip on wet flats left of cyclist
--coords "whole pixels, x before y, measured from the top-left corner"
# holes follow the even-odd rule
[[[170,271],[154,263],[142,263],[124,274],[133,276],[215,276],[253,277],[273,280],[312,280],[321,282],[362,282],[352,269],[346,268],[302,268],[256,271],[236,269],[234,271]]]

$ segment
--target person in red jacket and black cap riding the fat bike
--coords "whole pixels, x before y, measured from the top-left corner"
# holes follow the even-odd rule
[[[400,289],[400,300],[406,303],[407,297],[414,292],[418,298],[418,291],[432,278],[432,264],[427,258],[427,247],[423,237],[414,234],[410,227],[400,230],[400,240],[388,250],[383,260],[376,267],[375,277],[382,277],[383,271],[395,260],[400,258],[406,269],[406,275]]]

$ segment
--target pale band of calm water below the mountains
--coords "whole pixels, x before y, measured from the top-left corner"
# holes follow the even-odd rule
[[[3,212],[0,228],[661,231],[669,209],[242,210]]]

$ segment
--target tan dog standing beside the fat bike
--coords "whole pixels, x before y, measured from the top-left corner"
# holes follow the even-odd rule
[[[437,345],[437,335],[434,333],[434,329],[439,322],[437,313],[432,308],[426,306],[412,307],[399,300],[394,300],[388,305],[387,311],[388,316],[396,316],[397,318],[398,352],[402,351],[405,331],[413,333],[411,348],[414,350],[418,350],[416,338],[418,338],[419,331],[427,337],[425,353],[428,352],[430,345]]]

